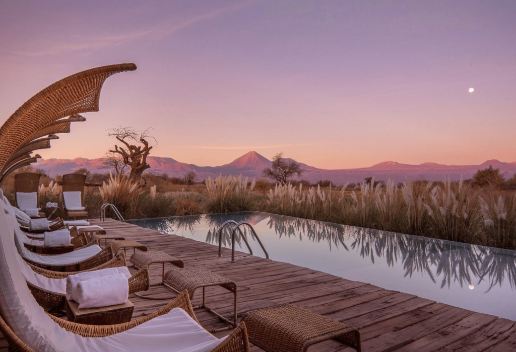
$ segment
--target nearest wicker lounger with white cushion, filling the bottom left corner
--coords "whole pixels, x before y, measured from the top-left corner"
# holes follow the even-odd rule
[[[249,351],[245,324],[218,340],[200,326],[187,293],[153,314],[117,325],[75,324],[45,314],[22,276],[12,231],[0,202],[0,330],[10,350]]]

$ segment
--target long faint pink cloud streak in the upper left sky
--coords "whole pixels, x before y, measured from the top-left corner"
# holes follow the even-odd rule
[[[167,19],[148,28],[143,28],[132,32],[125,32],[123,34],[97,36],[90,38],[72,38],[70,40],[59,42],[46,39],[37,39],[37,45],[28,45],[30,49],[26,50],[14,50],[12,51],[12,54],[27,57],[62,55],[71,52],[85,52],[86,54],[90,54],[95,50],[122,45],[124,43],[142,38],[161,40],[183,28],[187,28],[196,23],[212,19],[227,12],[238,10],[252,3],[255,3],[255,1],[243,2],[237,5],[220,8],[212,12],[201,14],[179,22]]]

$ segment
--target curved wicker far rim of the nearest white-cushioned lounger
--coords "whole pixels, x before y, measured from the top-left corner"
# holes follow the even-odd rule
[[[57,324],[63,329],[76,333],[82,337],[104,337],[110,336],[115,333],[119,333],[128,329],[132,329],[135,326],[148,322],[151,319],[156,318],[159,315],[167,314],[172,308],[181,308],[186,311],[198,324],[195,314],[193,313],[192,305],[190,303],[190,298],[188,297],[188,292],[185,290],[179,296],[175,297],[172,302],[167,304],[165,307],[156,310],[154,313],[149,314],[147,316],[143,316],[140,319],[133,320],[127,323],[116,324],[116,325],[85,325],[85,324],[77,324],[73,322],[69,322],[67,320],[62,320],[61,318],[57,318],[57,316],[50,315]],[[199,324],[200,325],[200,324]]]

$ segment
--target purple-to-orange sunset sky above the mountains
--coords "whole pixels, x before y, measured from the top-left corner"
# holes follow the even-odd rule
[[[513,0],[0,0],[0,123],[55,81],[134,62],[37,153],[102,157],[130,126],[199,166],[513,162],[514,33]]]

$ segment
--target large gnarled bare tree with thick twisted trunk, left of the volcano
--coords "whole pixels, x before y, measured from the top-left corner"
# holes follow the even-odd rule
[[[145,131],[136,131],[132,127],[112,128],[108,135],[118,139],[123,146],[115,145],[115,150],[109,150],[110,153],[120,154],[122,163],[131,168],[129,174],[130,178],[140,179],[143,171],[150,168],[147,164],[147,156],[149,155],[152,146],[149,146],[147,139],[152,138],[154,142],[156,139],[148,134],[149,129]],[[131,142],[141,143],[141,146],[131,144]]]

